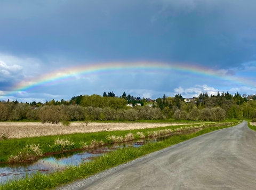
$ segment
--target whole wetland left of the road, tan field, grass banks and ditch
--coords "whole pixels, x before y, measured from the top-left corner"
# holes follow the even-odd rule
[[[26,189],[56,187],[190,138],[235,126],[237,123],[239,121],[228,120],[190,123],[90,122],[85,127],[82,122],[71,122],[70,126],[39,122],[0,122],[0,130],[2,133],[4,131],[5,135],[7,134],[6,138],[0,141],[0,168],[2,168],[0,179],[2,177],[2,180],[5,181],[2,186],[0,185],[0,189],[21,189],[24,186],[26,186]],[[147,140],[159,137],[165,138],[159,141]],[[145,141],[147,143],[142,143]],[[129,142],[132,145],[127,145]],[[118,145],[120,143],[121,146]],[[114,149],[113,147],[110,148],[115,150],[114,152],[109,151],[108,148],[106,150],[106,146],[109,145],[115,146]],[[116,148],[116,146],[119,148]],[[100,153],[97,153],[95,148],[104,150],[103,154],[101,149]],[[73,151],[87,152],[78,153],[81,157],[81,160],[78,160],[76,155],[72,153]],[[65,154],[64,159],[69,159],[71,162],[75,161],[78,164],[76,166],[73,163],[70,166],[68,164],[64,169],[59,165],[53,170],[47,168],[48,165],[45,163],[49,162],[49,167],[52,167],[52,159],[57,159],[56,162],[60,163],[59,159],[62,159],[61,155],[63,153]],[[93,154],[96,158],[90,160],[94,156]],[[52,155],[55,156],[49,157]],[[85,155],[89,155],[89,161],[85,158]],[[20,164],[22,164],[22,169]],[[34,168],[34,166],[42,168],[40,164],[45,167],[44,171],[47,171],[47,174],[41,173],[38,168]],[[32,166],[33,168],[31,168]],[[13,167],[16,169],[13,169]],[[17,168],[20,171],[17,174],[23,174],[24,176],[13,180],[11,171],[15,171]],[[61,171],[59,171],[60,168]],[[6,176],[7,169],[10,170],[9,176]],[[50,170],[51,172],[48,172]],[[26,172],[30,171],[35,171],[35,173],[26,175]]]

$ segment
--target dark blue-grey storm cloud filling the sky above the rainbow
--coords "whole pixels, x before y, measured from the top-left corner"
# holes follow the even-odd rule
[[[212,68],[254,60],[255,1],[4,1],[0,50]]]

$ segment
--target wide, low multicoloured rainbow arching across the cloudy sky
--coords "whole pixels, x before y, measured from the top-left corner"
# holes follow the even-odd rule
[[[94,64],[83,64],[70,68],[63,68],[56,70],[51,73],[45,73],[39,77],[25,79],[21,81],[17,86],[14,87],[12,92],[9,94],[15,94],[17,92],[31,92],[37,88],[56,85],[67,80],[75,80],[78,77],[91,77],[93,75],[104,75],[108,73],[122,73],[130,71],[140,72],[180,72],[183,75],[195,75],[202,77],[210,77],[213,80],[226,80],[235,81],[243,85],[255,86],[250,80],[234,77],[234,76],[223,76],[220,72],[207,69],[202,66],[195,64],[186,63],[163,63],[163,62],[109,62],[109,63],[94,63]]]

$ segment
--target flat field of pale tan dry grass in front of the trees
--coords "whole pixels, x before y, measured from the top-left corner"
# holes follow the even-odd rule
[[[39,122],[0,122],[1,133],[9,133],[10,138],[37,137],[48,135],[65,135],[74,133],[91,133],[98,131],[132,130],[155,127],[178,126],[186,123],[99,123],[91,122],[87,127],[81,122],[73,122],[70,126]]]

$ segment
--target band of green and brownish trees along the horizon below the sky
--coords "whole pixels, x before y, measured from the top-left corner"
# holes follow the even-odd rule
[[[184,101],[181,94],[174,97],[157,98],[153,108],[147,106],[145,98],[129,100],[130,97],[100,96],[97,94],[72,97],[70,101],[46,101],[19,103],[18,101],[0,102],[0,120],[41,120],[57,122],[61,120],[158,120],[177,119],[193,121],[222,121],[230,119],[256,118],[256,96],[234,96],[227,93],[208,95],[206,92]],[[71,102],[71,103],[70,103]],[[127,103],[141,103],[142,106],[130,108]],[[144,105],[144,106],[143,106]]]

